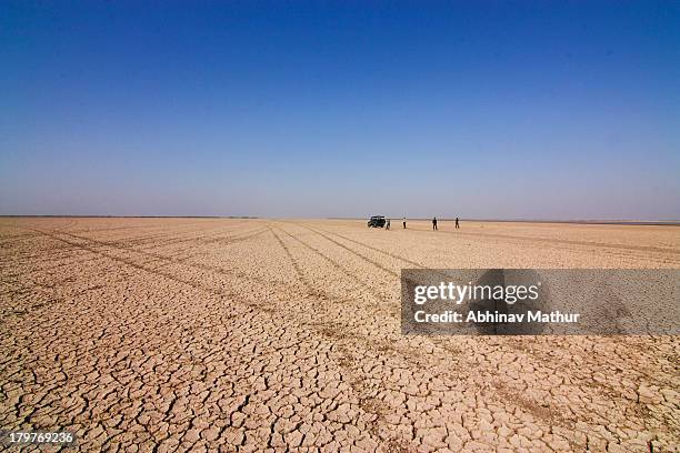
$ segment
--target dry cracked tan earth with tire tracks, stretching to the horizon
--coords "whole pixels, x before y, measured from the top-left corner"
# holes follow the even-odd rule
[[[0,219],[0,429],[81,451],[678,451],[677,336],[403,336],[399,273],[678,269],[679,228],[398,223]]]

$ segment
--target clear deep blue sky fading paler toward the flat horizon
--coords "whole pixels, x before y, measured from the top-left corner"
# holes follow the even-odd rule
[[[680,218],[680,2],[0,2],[0,214]]]

